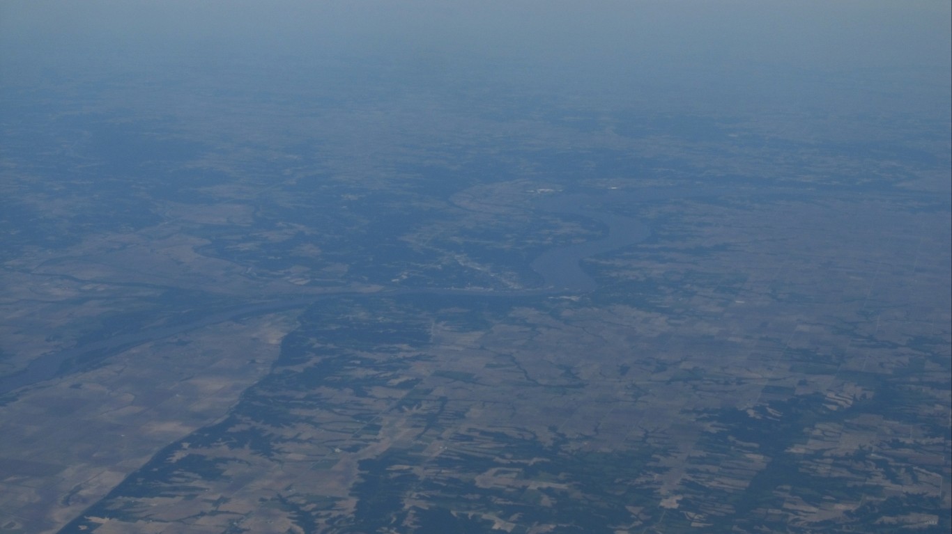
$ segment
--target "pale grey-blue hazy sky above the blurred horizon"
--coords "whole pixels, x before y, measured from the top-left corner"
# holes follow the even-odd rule
[[[734,59],[949,69],[950,3],[903,1],[7,0],[4,40],[293,52],[464,51],[549,60]],[[302,50],[301,48],[307,49]],[[5,48],[5,54],[10,53]],[[67,51],[67,50],[64,50]]]

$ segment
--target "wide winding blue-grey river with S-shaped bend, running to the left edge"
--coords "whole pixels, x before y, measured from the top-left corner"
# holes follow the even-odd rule
[[[395,295],[407,294],[438,294],[438,295],[460,295],[460,296],[479,296],[479,297],[526,297],[545,294],[556,294],[564,292],[588,292],[597,287],[595,281],[588,276],[581,267],[581,261],[585,258],[601,254],[616,248],[628,247],[644,241],[650,234],[650,229],[644,223],[611,213],[605,213],[596,209],[585,208],[586,204],[604,205],[605,202],[618,202],[619,198],[625,199],[627,195],[613,195],[615,198],[609,199],[604,195],[595,194],[567,194],[545,196],[538,199],[533,208],[539,211],[550,213],[563,213],[581,215],[604,224],[608,227],[607,234],[593,241],[568,245],[565,247],[555,247],[539,255],[531,264],[533,270],[542,275],[545,280],[544,287],[538,289],[506,289],[506,290],[476,290],[476,289],[453,289],[453,288],[394,288],[378,292],[361,292],[356,290],[342,289],[340,291],[328,292],[326,295],[309,296],[300,299],[284,300],[280,302],[257,303],[248,306],[234,307],[231,309],[215,312],[201,319],[191,321],[188,324],[175,326],[162,326],[150,328],[131,334],[121,334],[99,342],[77,346],[59,352],[44,354],[30,362],[24,370],[0,378],[0,395],[9,393],[15,389],[24,386],[30,386],[46,380],[50,380],[61,374],[69,372],[65,368],[71,362],[80,358],[86,360],[99,360],[109,355],[116,354],[132,346],[142,345],[151,341],[156,341],[170,336],[201,328],[203,326],[216,325],[238,317],[261,315],[280,311],[284,309],[293,309],[298,307],[309,307],[315,302],[331,297],[347,295],[349,297],[389,297]],[[668,195],[664,195],[665,197]],[[680,196],[680,195],[679,195]],[[640,195],[639,200],[646,200],[645,195]]]

